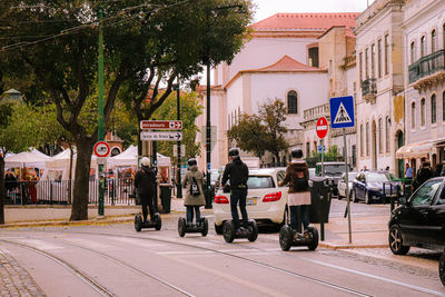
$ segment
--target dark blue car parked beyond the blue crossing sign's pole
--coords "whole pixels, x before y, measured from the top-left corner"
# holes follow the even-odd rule
[[[399,182],[393,181],[387,171],[364,171],[353,181],[352,199],[354,202],[364,200],[367,205],[374,201],[386,202],[385,199],[397,197],[399,187]]]

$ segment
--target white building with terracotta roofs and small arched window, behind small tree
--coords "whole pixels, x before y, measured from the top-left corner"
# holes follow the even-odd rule
[[[243,112],[256,112],[258,105],[281,99],[287,108],[287,139],[291,147],[304,146],[305,109],[327,102],[327,68],[319,67],[318,38],[333,26],[355,27],[358,13],[277,13],[250,26],[251,38],[231,65],[215,69],[211,93],[211,125],[216,146],[211,167],[227,162],[227,130]],[[214,92],[215,90],[215,92]],[[205,98],[205,97],[204,97]],[[205,126],[205,115],[198,119]],[[205,132],[205,129],[201,129]],[[199,138],[201,139],[201,138]],[[202,146],[201,151],[205,151]],[[283,152],[283,159],[288,152]],[[277,161],[277,160],[276,160]],[[205,154],[198,160],[205,165]]]

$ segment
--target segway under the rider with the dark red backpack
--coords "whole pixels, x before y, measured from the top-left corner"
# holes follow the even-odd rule
[[[290,214],[290,210],[289,212]],[[315,250],[318,246],[318,230],[315,227],[307,227],[308,234],[305,236],[290,227],[287,219],[286,225],[279,230],[279,246],[287,251],[290,247],[307,246],[310,250]]]

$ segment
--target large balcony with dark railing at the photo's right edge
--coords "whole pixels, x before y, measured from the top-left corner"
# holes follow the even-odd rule
[[[425,91],[445,79],[445,49],[422,57],[408,67],[409,85]]]

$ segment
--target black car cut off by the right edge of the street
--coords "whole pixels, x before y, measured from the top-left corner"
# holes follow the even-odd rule
[[[406,255],[409,247],[444,253],[445,244],[445,178],[425,181],[407,200],[393,210],[389,219],[389,248]],[[445,285],[445,256],[439,260],[439,276]]]

